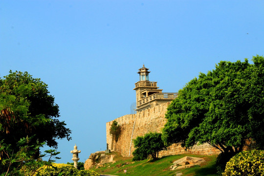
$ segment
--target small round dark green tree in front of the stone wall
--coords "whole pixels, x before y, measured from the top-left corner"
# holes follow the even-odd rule
[[[135,150],[133,154],[133,161],[143,160],[151,155],[153,159],[158,158],[158,153],[166,149],[164,142],[161,139],[161,133],[149,132],[144,136],[137,136],[133,140]]]

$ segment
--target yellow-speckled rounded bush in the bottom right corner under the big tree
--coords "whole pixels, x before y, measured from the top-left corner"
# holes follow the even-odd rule
[[[222,176],[264,176],[264,151],[243,151],[226,164]]]

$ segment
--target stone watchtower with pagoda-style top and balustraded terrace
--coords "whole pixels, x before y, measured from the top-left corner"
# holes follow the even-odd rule
[[[139,81],[135,83],[136,91],[136,111],[146,110],[161,103],[171,102],[177,97],[177,93],[162,93],[162,89],[158,89],[157,82],[149,81],[149,68],[144,65],[139,68]]]

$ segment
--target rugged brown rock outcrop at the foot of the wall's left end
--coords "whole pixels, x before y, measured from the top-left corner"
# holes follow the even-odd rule
[[[86,170],[92,167],[102,167],[106,163],[115,162],[113,160],[114,154],[105,154],[105,151],[95,152],[90,154],[89,158],[84,163],[84,168]]]

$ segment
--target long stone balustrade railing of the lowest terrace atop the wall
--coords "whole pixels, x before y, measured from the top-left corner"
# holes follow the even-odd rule
[[[154,93],[137,102],[137,107],[150,103],[153,100],[174,100],[178,93]]]

